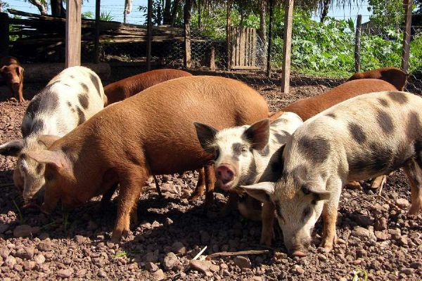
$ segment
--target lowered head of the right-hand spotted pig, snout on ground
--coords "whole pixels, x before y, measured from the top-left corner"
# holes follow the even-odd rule
[[[261,202],[274,204],[289,254],[305,256],[329,192],[316,185],[299,183],[292,176],[283,177],[277,183],[263,182],[241,188]]]

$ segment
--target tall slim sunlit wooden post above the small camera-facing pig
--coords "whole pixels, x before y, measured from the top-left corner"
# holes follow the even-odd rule
[[[281,89],[283,93],[288,93],[290,91],[290,52],[292,49],[293,4],[294,0],[284,0],[283,73],[281,77]]]

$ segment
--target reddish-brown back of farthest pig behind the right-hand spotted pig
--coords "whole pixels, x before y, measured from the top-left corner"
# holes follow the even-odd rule
[[[396,67],[382,67],[366,72],[356,72],[347,81],[356,79],[381,79],[395,86],[397,90],[403,91],[404,86],[406,86],[407,77],[408,74],[406,72]]]

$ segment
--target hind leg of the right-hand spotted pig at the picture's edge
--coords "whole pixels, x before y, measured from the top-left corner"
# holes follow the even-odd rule
[[[411,159],[404,167],[404,172],[409,178],[411,188],[411,206],[409,215],[417,216],[422,210],[422,170],[421,166]]]

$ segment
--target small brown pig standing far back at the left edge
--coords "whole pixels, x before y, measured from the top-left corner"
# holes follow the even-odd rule
[[[0,60],[0,74],[11,93],[19,98],[19,102],[25,101],[23,98],[23,72],[17,58],[4,57]]]

